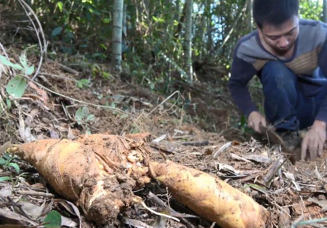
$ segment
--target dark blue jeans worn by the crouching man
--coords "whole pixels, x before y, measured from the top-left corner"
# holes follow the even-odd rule
[[[277,131],[297,131],[313,124],[327,95],[327,80],[320,70],[317,74],[315,84],[315,77],[298,77],[281,61],[265,64],[261,72],[265,113]]]

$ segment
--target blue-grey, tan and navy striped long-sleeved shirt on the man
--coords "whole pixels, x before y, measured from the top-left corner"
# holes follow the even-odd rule
[[[260,76],[264,65],[272,60],[282,61],[306,82],[306,95],[314,95],[318,88],[321,91],[322,86],[327,84],[327,78],[319,74],[320,70],[327,76],[327,24],[300,19],[293,56],[286,60],[278,59],[263,47],[258,30],[239,40],[233,54],[228,85],[236,105],[246,116],[252,111],[258,111],[251,100],[247,83],[255,74]],[[316,120],[327,122],[327,97],[321,104]]]

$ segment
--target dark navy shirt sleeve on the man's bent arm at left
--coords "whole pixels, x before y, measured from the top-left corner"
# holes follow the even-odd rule
[[[247,88],[247,83],[255,73],[256,70],[251,64],[234,55],[228,86],[235,104],[246,116],[252,111],[258,111]]]

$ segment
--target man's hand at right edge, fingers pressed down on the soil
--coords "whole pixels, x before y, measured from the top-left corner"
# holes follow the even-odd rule
[[[323,152],[323,144],[326,140],[326,123],[315,120],[311,129],[306,133],[302,140],[301,159],[307,157],[309,149],[311,161],[315,160]]]

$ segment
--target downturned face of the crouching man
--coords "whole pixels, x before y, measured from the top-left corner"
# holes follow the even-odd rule
[[[258,30],[262,38],[278,55],[283,56],[293,48],[299,33],[298,16],[293,16],[279,26],[264,23]]]

